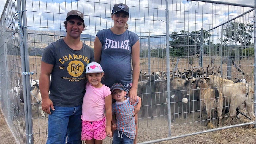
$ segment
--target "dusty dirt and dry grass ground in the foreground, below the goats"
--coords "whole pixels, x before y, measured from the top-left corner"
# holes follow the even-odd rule
[[[1,111],[0,111],[1,112]],[[197,116],[199,112],[192,112],[188,115],[188,119],[183,119],[183,115],[176,118],[176,121],[171,123],[172,136],[178,136],[181,134],[187,134],[190,132],[198,132],[206,130],[206,121],[202,118],[198,121]],[[138,142],[154,140],[159,138],[168,137],[168,119],[167,116],[157,116],[154,119],[141,118],[139,115],[139,135]],[[46,129],[47,118],[36,118],[33,116],[34,124],[34,143],[46,142]],[[234,120],[233,124],[248,122],[249,120],[243,116],[240,116],[241,120]],[[216,124],[216,121],[214,121]],[[204,134],[198,134],[195,136],[189,136],[184,138],[177,138],[174,140],[168,140],[159,142],[159,144],[243,144],[243,143],[256,143],[256,130],[249,129],[247,126],[224,129],[217,132],[208,132]],[[12,136],[9,127],[5,123],[2,113],[0,113],[0,144],[14,144],[15,139]],[[104,140],[105,144],[111,143],[112,138],[107,137]]]

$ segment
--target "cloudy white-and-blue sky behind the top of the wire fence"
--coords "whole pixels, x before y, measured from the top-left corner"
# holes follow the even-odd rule
[[[0,12],[6,0],[0,0]],[[216,0],[239,4],[253,5],[253,1],[244,0]],[[63,22],[66,13],[72,9],[84,13],[87,29],[85,34],[95,36],[97,31],[110,28],[113,21],[110,18],[114,3],[110,0],[71,1],[53,0],[46,3],[42,0],[26,0],[27,24],[29,29],[35,30],[64,30]],[[114,1],[115,2],[115,1]],[[124,0],[116,2],[125,2]],[[165,34],[166,16],[165,1],[131,0],[126,3],[130,7],[129,30],[138,35]],[[180,30],[195,31],[211,29],[224,23],[251,8],[237,7],[222,4],[211,4],[198,1],[173,0],[169,1],[169,31]],[[253,17],[250,15],[249,17]],[[239,18],[241,22],[248,23],[250,18]],[[213,33],[213,32],[212,32]]]

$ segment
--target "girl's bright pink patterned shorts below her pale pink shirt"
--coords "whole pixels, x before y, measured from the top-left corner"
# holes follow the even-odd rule
[[[106,137],[106,117],[100,121],[82,121],[82,140],[103,140]]]

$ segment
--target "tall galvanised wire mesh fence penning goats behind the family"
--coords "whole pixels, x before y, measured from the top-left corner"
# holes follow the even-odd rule
[[[222,129],[229,125],[254,124],[254,121],[246,118],[253,118],[255,111],[251,107],[254,105],[255,81],[254,6],[207,0],[10,0],[0,20],[1,109],[19,143],[30,143],[29,138],[31,143],[45,143],[48,131],[48,115],[43,117],[40,112],[31,110],[34,103],[31,103],[31,94],[27,90],[31,82],[20,79],[25,78],[22,72],[33,72],[32,79],[39,79],[42,52],[51,42],[65,37],[63,22],[68,11],[76,9],[84,13],[87,28],[81,35],[81,41],[94,48],[96,33],[113,26],[111,8],[120,2],[127,4],[130,9],[128,30],[140,37],[138,96],[142,98],[142,107],[138,113],[139,143],[195,135],[214,127]],[[21,9],[20,5],[24,4],[26,7]],[[27,32],[24,32],[25,29]],[[200,80],[209,71],[210,75],[221,76],[233,83],[246,79],[246,93],[243,95],[236,90],[235,94],[227,96],[225,91],[234,93],[234,87],[241,88],[244,84],[211,85],[213,79],[208,77],[205,79],[207,83],[218,91],[209,90],[215,92],[214,97],[202,97],[204,88],[200,89]],[[206,104],[207,100],[214,101],[217,93],[224,93],[219,125],[217,102],[213,107]],[[217,96],[218,99],[221,94]],[[228,98],[231,96],[237,98],[232,105],[235,105],[235,109],[239,107],[246,116],[240,113],[240,119],[233,118],[225,124],[231,105]],[[201,101],[208,108],[207,113],[209,109],[212,110],[212,125],[208,124],[209,118],[205,112],[198,118],[200,111],[203,111]],[[111,143],[111,139],[106,138],[104,143]]]

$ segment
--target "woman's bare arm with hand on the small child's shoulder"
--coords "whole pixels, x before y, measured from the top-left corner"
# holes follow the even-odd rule
[[[135,104],[137,100],[137,87],[140,75],[140,42],[139,40],[132,46],[132,87],[128,96],[130,103]]]

